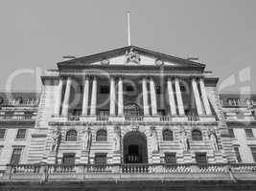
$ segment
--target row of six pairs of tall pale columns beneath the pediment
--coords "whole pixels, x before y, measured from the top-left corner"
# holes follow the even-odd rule
[[[90,83],[90,80],[92,80],[91,83]],[[199,79],[192,78],[191,83],[192,83],[192,89],[193,89],[193,93],[196,100],[198,116],[212,115],[203,78],[199,78]],[[60,78],[58,83],[58,96],[57,96],[56,107],[55,107],[56,115],[61,114],[61,116],[68,116],[69,101],[70,101],[71,86],[72,86],[71,76],[67,77],[65,84],[66,84],[66,88],[65,88],[65,93],[64,93],[63,102],[62,102],[61,96],[62,96],[62,91],[64,86],[64,79]],[[156,100],[156,92],[155,92],[155,81],[153,77],[143,77],[141,84],[142,84],[144,116],[157,116],[157,100]],[[92,86],[91,95],[89,95],[90,85]],[[81,111],[81,115],[84,117],[96,116],[97,114],[96,113],[97,86],[98,86],[98,78],[96,76],[92,78],[85,77],[84,87],[83,87],[83,98],[82,98],[82,111]],[[200,90],[200,94],[198,89]],[[182,94],[180,90],[180,80],[177,77],[167,78],[167,91],[169,96],[169,105],[170,105],[171,115],[184,116],[185,111],[184,111],[184,105],[182,100]],[[110,94],[109,95],[110,97],[109,115],[124,116],[123,77],[121,76],[110,77],[110,93],[109,94]],[[116,103],[117,103],[117,111],[116,111]],[[62,105],[62,109],[60,113],[61,105]]]

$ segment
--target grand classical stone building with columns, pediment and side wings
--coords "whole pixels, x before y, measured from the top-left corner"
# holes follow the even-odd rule
[[[134,46],[57,66],[33,104],[1,105],[0,186],[253,190],[256,96],[220,95],[198,60]]]

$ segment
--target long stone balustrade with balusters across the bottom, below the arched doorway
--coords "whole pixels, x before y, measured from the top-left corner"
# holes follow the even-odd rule
[[[106,173],[106,174],[105,174]],[[110,174],[119,174],[121,177],[127,174],[137,174],[140,176],[151,174],[159,177],[161,175],[170,175],[174,177],[177,175],[180,179],[182,176],[187,176],[190,173],[194,174],[193,178],[197,174],[208,176],[216,175],[230,176],[230,173],[235,176],[254,176],[256,179],[256,164],[248,163],[235,163],[235,164],[191,164],[191,163],[177,163],[177,164],[149,164],[149,163],[135,163],[135,164],[76,164],[76,165],[62,165],[62,164],[19,164],[8,165],[7,170],[2,173],[2,180],[20,180],[20,179],[61,179],[59,175],[65,176],[86,175],[83,179],[90,179],[90,175],[94,178],[99,175],[99,178],[108,178]],[[57,176],[57,177],[55,177]],[[180,177],[181,176],[181,177]],[[197,177],[196,177],[197,178]],[[232,179],[231,177],[228,177]]]

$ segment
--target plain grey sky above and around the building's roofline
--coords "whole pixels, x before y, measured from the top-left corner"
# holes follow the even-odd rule
[[[0,0],[0,90],[39,91],[63,55],[131,45],[198,57],[221,93],[256,93],[255,0]]]

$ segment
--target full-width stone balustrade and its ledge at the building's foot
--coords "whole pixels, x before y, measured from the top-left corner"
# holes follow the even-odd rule
[[[123,181],[123,180],[256,180],[256,164],[105,164],[8,165],[1,182],[12,181]]]

